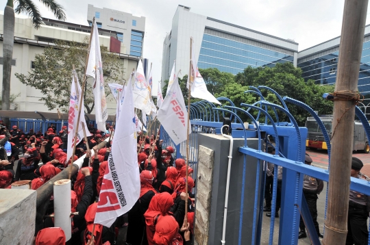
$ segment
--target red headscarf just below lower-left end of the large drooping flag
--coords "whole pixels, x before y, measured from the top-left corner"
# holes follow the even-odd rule
[[[97,214],[97,203],[93,203],[88,207],[85,214],[86,230],[84,233],[84,244],[91,239],[91,233],[93,232],[95,214]],[[95,224],[94,236],[95,244],[101,244],[101,233],[103,233],[103,225]]]

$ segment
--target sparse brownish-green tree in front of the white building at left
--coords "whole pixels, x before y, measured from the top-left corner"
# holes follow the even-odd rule
[[[107,47],[101,46],[103,76],[106,84],[106,96],[110,94],[108,83],[123,83],[123,62],[115,53],[110,53]],[[35,56],[34,66],[28,75],[16,73],[16,77],[27,86],[37,88],[45,96],[40,99],[48,109],[60,108],[68,112],[69,96],[71,94],[72,70],[75,64],[76,75],[80,85],[84,79],[86,55],[88,53],[88,38],[84,42],[56,41],[55,47],[47,47],[42,54]],[[90,114],[94,108],[93,79],[86,82],[84,106]]]

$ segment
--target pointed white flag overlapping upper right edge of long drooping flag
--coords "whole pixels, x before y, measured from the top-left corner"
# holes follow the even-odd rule
[[[138,62],[138,68],[135,75],[134,107],[141,109],[147,115],[151,112],[150,88],[145,79],[143,63],[141,60]]]

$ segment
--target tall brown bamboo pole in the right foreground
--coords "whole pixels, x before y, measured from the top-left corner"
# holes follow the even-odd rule
[[[334,91],[328,209],[323,244],[345,244],[358,71],[368,0],[345,0]]]

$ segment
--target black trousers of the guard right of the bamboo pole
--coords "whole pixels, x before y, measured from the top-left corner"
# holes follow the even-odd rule
[[[356,207],[349,207],[347,221],[346,245],[367,245],[369,231],[367,231],[367,211]]]

